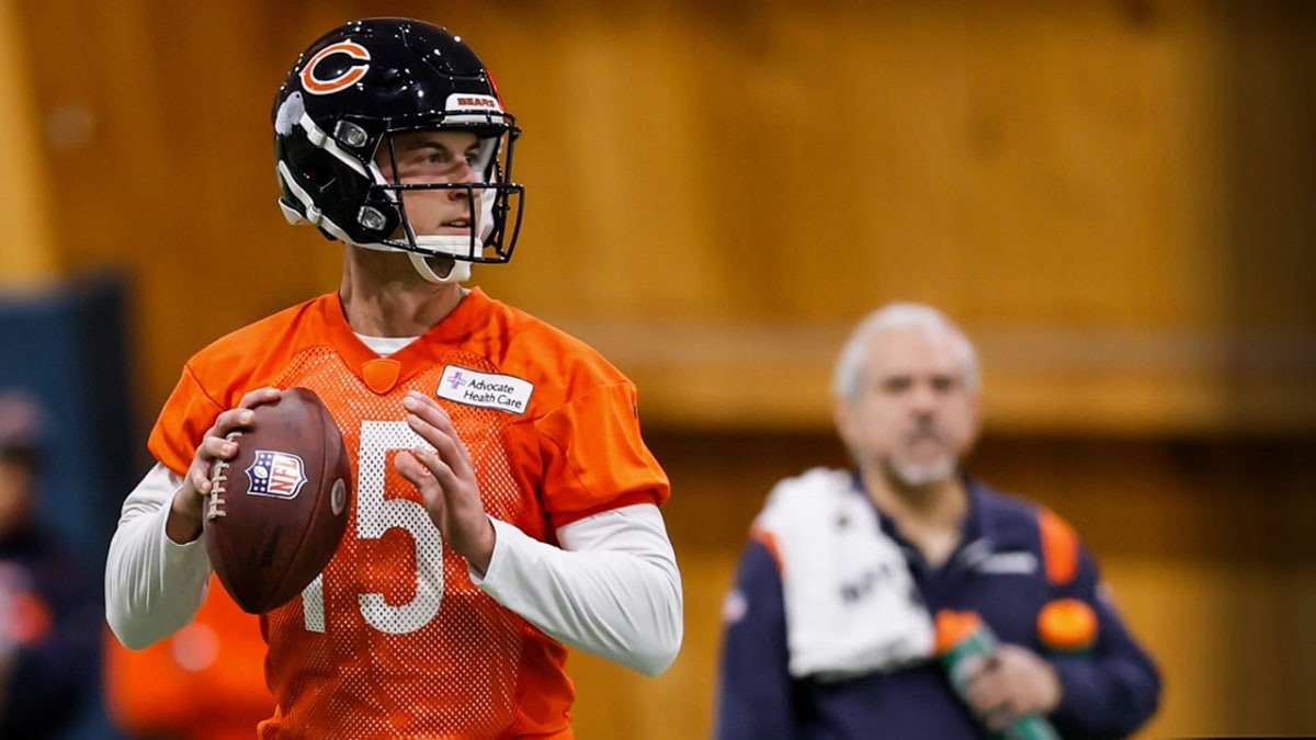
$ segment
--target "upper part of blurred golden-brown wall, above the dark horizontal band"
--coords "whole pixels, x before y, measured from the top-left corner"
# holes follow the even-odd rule
[[[1223,359],[1190,352],[1101,382],[1073,362],[1033,363],[999,381],[1007,423],[1065,427],[1078,396],[1082,416],[1109,429],[1219,429],[1232,415],[1311,425],[1295,410],[1313,404],[1266,395],[1316,392],[1303,381],[1316,361],[1302,317],[1309,259],[1296,246],[1309,224],[1265,195],[1234,209],[1225,200],[1241,190],[1298,203],[1313,190],[1296,167],[1263,167],[1283,163],[1284,149],[1249,157],[1273,124],[1288,136],[1271,138],[1302,138],[1309,109],[1284,91],[1300,90],[1311,21],[1253,7],[445,8],[528,132],[522,245],[478,280],[587,340],[597,332],[601,349],[649,378],[657,413],[696,424],[753,410],[762,423],[817,425],[778,392],[813,344],[763,361],[754,337],[784,324],[772,342],[790,346],[803,328],[848,327],[911,298],[988,334],[1048,338],[1025,357],[1063,357],[1092,334],[1134,337],[1111,345],[1103,373],[1136,365],[1140,342],[1232,341],[1257,323],[1282,324],[1273,342],[1299,348],[1278,379],[1263,367],[1236,384],[1221,375],[1236,375],[1248,350],[1232,345]],[[337,282],[337,250],[290,232],[274,207],[267,101],[313,34],[386,12],[433,8],[20,7],[55,132],[62,248],[70,269],[121,262],[138,275],[146,407],[204,341]],[[1236,22],[1249,13],[1259,20]],[[1266,51],[1275,34],[1290,41]],[[1252,112],[1230,119],[1238,101]],[[1252,246],[1258,234],[1278,248]],[[1238,275],[1265,287],[1241,288]],[[242,300],[229,284],[243,286]],[[655,365],[633,346],[646,341],[636,323],[701,344],[665,346]],[[708,342],[740,359],[700,365]],[[686,387],[666,378],[686,375],[724,390],[682,402]]]

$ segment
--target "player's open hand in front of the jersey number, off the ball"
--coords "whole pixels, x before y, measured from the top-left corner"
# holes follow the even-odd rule
[[[483,574],[494,557],[495,533],[480,502],[471,456],[437,399],[412,391],[403,400],[403,408],[407,424],[433,449],[399,452],[393,466],[420,491],[443,541]]]

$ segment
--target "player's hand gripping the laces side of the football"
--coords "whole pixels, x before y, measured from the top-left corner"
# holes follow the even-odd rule
[[[192,465],[183,475],[183,487],[174,494],[168,523],[164,527],[170,540],[182,544],[201,536],[204,496],[211,492],[215,465],[233,460],[238,453],[238,444],[230,441],[228,433],[251,424],[251,410],[279,400],[282,392],[279,388],[257,388],[243,395],[237,408],[224,411],[215,417],[215,424],[201,437],[201,444],[192,456]]]

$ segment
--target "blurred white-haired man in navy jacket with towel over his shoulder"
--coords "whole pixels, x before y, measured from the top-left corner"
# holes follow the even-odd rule
[[[1146,722],[1157,668],[1078,535],[961,471],[982,390],[963,332],[887,305],[851,334],[833,390],[854,470],[782,481],[755,519],[724,610],[716,736],[954,740],[1032,715],[1113,737]],[[937,621],[966,612],[1000,644],[953,683]]]

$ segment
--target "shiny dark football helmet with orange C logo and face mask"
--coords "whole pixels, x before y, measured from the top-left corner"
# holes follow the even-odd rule
[[[436,129],[475,133],[478,182],[404,186],[376,165],[380,151],[392,155],[393,134]],[[326,33],[279,87],[274,132],[288,223],[367,249],[407,251],[433,282],[465,280],[472,262],[512,258],[524,196],[511,182],[512,149],[521,130],[488,70],[446,29],[367,18]],[[433,188],[467,192],[476,220],[470,236],[416,233],[401,192]],[[433,257],[454,259],[453,269],[436,274],[426,261]]]

